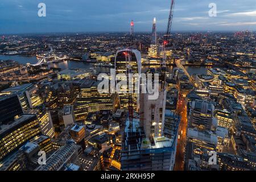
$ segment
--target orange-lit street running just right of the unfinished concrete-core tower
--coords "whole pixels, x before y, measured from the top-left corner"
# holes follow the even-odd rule
[[[177,151],[174,171],[184,170],[184,154],[185,154],[185,143],[187,139],[187,105],[184,97],[179,97],[177,102],[177,113],[180,114],[180,126],[179,126],[179,138],[177,141]]]

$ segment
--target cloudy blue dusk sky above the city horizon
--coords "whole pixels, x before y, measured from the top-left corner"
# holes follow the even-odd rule
[[[165,31],[171,0],[1,0],[0,33]],[[38,4],[46,4],[46,17]],[[209,3],[217,16],[210,17]],[[255,0],[176,0],[172,31],[256,30]]]

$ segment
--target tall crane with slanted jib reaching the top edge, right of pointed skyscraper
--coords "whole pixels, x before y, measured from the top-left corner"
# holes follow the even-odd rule
[[[164,57],[163,57],[162,67],[164,68],[166,68],[166,46],[169,44],[169,40],[171,36],[172,16],[174,15],[174,4],[175,4],[175,0],[171,0],[171,8],[170,8],[170,14],[168,19],[167,30],[166,30],[166,34],[164,34],[164,39],[163,39]]]

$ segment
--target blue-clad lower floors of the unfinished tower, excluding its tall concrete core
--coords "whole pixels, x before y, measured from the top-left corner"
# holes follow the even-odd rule
[[[174,128],[175,135],[177,127]],[[170,171],[175,160],[176,138],[147,138],[139,119],[134,119],[133,129],[126,122],[122,142],[121,169],[123,171]]]

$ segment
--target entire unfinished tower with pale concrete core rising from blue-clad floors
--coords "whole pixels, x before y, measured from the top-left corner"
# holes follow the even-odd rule
[[[129,126],[127,119],[122,142],[122,170],[169,171],[174,168],[179,119],[175,121],[171,119],[174,114],[168,114],[164,132],[165,85],[165,81],[160,82],[157,90],[159,97],[155,100],[149,99],[150,93],[142,93],[139,98],[139,119],[134,118],[132,126]]]

